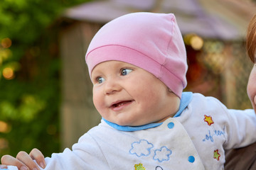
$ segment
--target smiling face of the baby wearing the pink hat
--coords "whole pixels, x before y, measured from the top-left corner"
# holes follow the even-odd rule
[[[173,116],[180,99],[144,69],[126,62],[108,61],[92,70],[93,103],[106,120],[138,126]]]

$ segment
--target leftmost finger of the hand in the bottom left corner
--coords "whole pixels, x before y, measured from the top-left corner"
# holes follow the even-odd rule
[[[15,157],[11,157],[11,155],[8,154],[1,157],[1,164],[17,166],[20,170],[28,170],[28,167],[25,164],[18,161],[18,159],[16,159]],[[7,166],[4,168],[7,168]]]

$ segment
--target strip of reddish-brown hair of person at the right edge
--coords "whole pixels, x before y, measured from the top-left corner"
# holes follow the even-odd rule
[[[252,62],[256,62],[256,15],[252,17],[247,29],[246,49],[250,60],[252,60]]]

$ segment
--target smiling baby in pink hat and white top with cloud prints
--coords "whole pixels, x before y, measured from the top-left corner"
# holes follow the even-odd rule
[[[47,157],[46,169],[223,169],[224,149],[256,141],[253,110],[183,92],[188,65],[174,14],[114,19],[85,60],[102,121]]]

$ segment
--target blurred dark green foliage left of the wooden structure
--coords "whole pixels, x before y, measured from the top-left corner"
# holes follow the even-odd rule
[[[59,152],[55,23],[65,8],[85,1],[0,1],[0,157],[34,147],[45,156]]]

